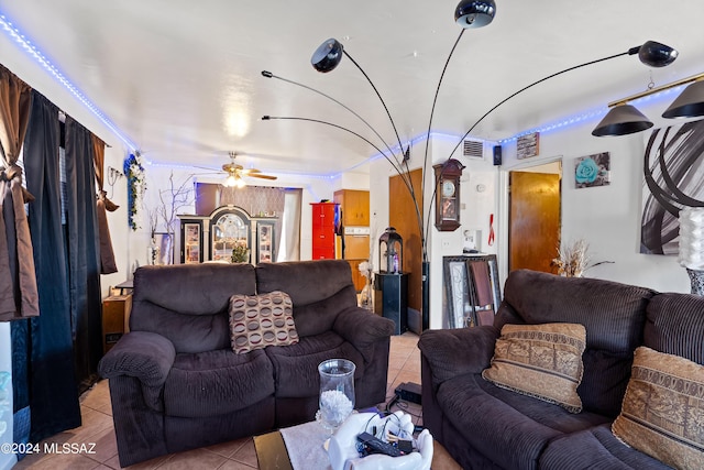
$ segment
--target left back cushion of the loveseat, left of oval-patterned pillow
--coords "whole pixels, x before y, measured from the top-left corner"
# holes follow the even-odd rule
[[[142,266],[134,273],[131,331],[168,338],[176,352],[228,348],[232,294],[256,294],[250,264]]]

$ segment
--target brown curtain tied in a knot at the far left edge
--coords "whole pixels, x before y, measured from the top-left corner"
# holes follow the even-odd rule
[[[0,66],[0,320],[40,314],[30,227],[16,162],[26,133],[32,88]]]

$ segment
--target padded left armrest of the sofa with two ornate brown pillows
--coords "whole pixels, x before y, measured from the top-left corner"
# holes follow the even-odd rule
[[[427,360],[436,385],[457,375],[481,373],[494,356],[498,331],[492,326],[427,330],[418,348]]]

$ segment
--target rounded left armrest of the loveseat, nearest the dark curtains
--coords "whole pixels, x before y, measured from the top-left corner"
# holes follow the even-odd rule
[[[98,373],[106,379],[130,375],[147,387],[161,387],[176,358],[174,345],[155,332],[132,331],[100,360]]]

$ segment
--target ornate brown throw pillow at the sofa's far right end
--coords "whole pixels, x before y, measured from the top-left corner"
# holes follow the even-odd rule
[[[704,367],[636,349],[620,415],[622,441],[678,469],[704,469]]]

